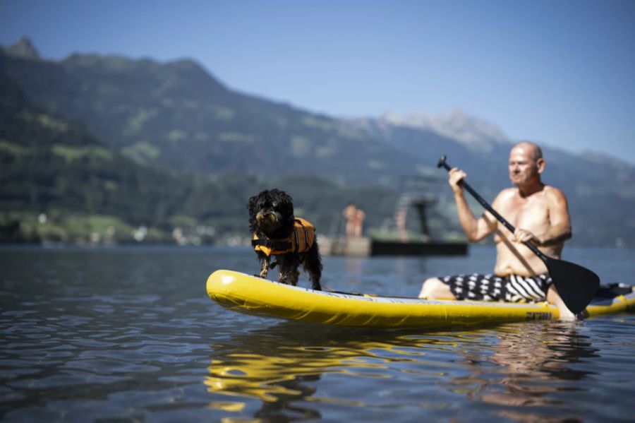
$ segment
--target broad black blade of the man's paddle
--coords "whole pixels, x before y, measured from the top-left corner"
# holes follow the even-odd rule
[[[598,275],[576,263],[564,260],[548,257],[545,263],[567,309],[574,314],[586,309],[600,287]]]

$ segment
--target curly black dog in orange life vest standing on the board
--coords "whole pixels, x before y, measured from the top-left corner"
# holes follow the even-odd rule
[[[294,201],[279,189],[265,190],[249,198],[249,230],[253,233],[253,245],[260,263],[260,278],[277,264],[280,266],[278,282],[298,283],[303,265],[314,290],[322,290],[322,258],[315,239],[315,227],[306,220],[294,216]],[[277,261],[271,263],[271,256]]]

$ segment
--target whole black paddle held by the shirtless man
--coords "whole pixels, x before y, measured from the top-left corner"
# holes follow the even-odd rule
[[[452,168],[445,162],[445,159],[446,157],[442,155],[437,163],[437,167],[443,167],[449,171]],[[476,198],[480,205],[483,205],[485,209],[492,213],[512,234],[514,233],[516,230],[514,226],[499,215],[487,201],[483,200],[465,180],[462,180],[460,184]],[[600,278],[598,278],[598,275],[575,263],[545,256],[545,254],[543,254],[538,247],[531,244],[531,242],[526,241],[524,244],[533,254],[536,254],[540,260],[545,262],[551,280],[555,284],[558,294],[560,294],[560,298],[562,298],[562,302],[567,306],[567,309],[571,310],[571,313],[574,314],[578,314],[586,309],[586,306],[591,302],[591,299],[593,299],[595,292],[600,286]]]

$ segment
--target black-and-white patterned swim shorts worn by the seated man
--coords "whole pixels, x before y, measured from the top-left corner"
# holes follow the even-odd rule
[[[541,302],[552,284],[547,274],[538,276],[454,275],[439,278],[456,299],[476,301]]]

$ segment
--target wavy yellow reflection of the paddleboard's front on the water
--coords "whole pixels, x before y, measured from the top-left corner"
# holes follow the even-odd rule
[[[305,329],[305,326],[299,328]],[[310,327],[309,327],[310,328]],[[355,334],[296,333],[298,326],[281,324],[269,330],[236,336],[227,345],[212,345],[216,352],[205,385],[211,393],[243,398],[257,398],[265,403],[281,400],[306,400],[363,407],[360,400],[341,398],[315,398],[317,381],[324,374],[342,374],[347,377],[391,379],[395,371],[442,376],[444,372],[430,368],[452,366],[449,363],[428,362],[425,350],[454,350],[461,333],[453,333],[447,340],[435,336],[399,333]],[[352,339],[351,339],[352,338]],[[396,369],[395,363],[419,363],[422,370]],[[454,365],[456,367],[456,365]],[[423,369],[428,369],[423,370]],[[244,403],[214,403],[229,411],[241,410]],[[228,405],[231,404],[231,405]]]

